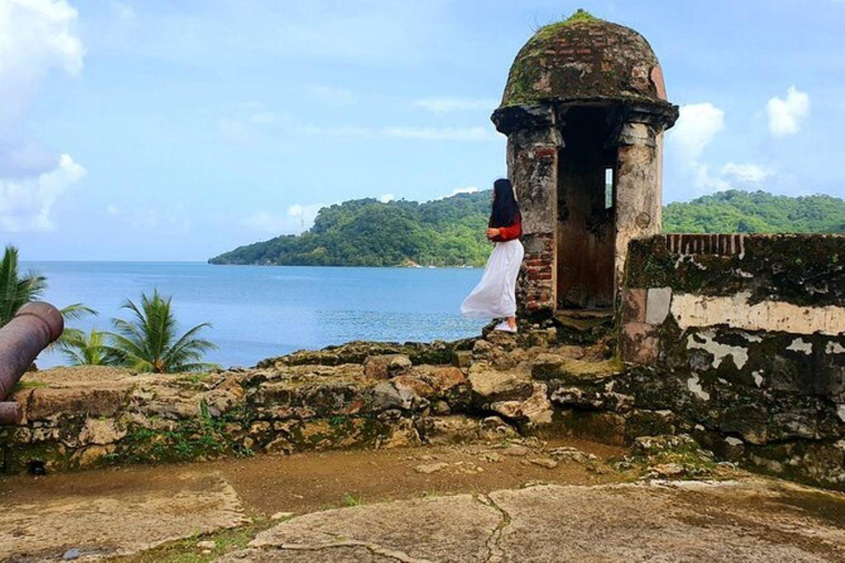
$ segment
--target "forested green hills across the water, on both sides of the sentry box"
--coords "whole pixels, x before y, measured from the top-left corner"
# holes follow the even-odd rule
[[[490,191],[418,203],[358,199],[323,208],[300,235],[240,246],[211,264],[292,266],[483,265]],[[724,191],[663,209],[666,232],[845,232],[845,201]]]

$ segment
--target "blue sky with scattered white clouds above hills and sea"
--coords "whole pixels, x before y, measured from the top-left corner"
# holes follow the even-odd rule
[[[0,244],[205,261],[348,199],[485,189],[514,56],[578,8],[660,59],[665,202],[845,197],[845,0],[0,0]]]

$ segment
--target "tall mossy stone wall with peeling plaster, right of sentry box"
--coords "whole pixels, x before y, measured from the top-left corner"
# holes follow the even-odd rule
[[[717,454],[845,487],[845,236],[632,242],[616,389]]]

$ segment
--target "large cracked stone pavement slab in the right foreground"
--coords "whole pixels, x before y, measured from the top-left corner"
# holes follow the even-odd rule
[[[845,497],[795,485],[544,485],[332,509],[219,562],[845,561]]]

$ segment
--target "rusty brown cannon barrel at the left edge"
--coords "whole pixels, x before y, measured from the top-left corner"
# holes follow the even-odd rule
[[[21,421],[15,401],[2,402],[37,355],[65,330],[58,309],[43,301],[26,303],[0,328],[0,424]]]

